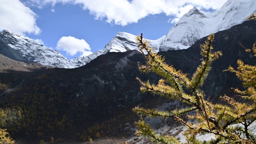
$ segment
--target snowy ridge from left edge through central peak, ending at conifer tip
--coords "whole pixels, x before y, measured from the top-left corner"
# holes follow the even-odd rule
[[[57,50],[51,50],[46,46],[37,44],[35,40],[20,34],[14,34],[8,30],[0,32],[0,38],[10,48],[14,49],[17,54],[21,55],[23,61],[34,62],[45,66],[59,68],[77,68],[84,66],[91,60],[108,52],[126,52],[128,50],[137,49],[136,36],[126,32],[118,32],[118,34],[103,48],[93,54],[68,60]]]

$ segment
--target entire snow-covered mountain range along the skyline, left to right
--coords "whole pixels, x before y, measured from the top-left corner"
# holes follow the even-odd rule
[[[215,12],[204,12],[192,8],[157,40],[150,40],[155,52],[179,50],[190,47],[196,40],[221,30],[241,24],[256,11],[256,0],[228,0]],[[56,50],[37,44],[34,40],[8,30],[0,32],[0,54],[25,62],[34,62],[58,68],[77,68],[108,52],[137,50],[136,36],[126,32],[118,34],[106,46],[93,54],[68,60]]]

